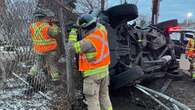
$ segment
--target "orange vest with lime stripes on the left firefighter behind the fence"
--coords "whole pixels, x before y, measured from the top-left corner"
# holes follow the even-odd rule
[[[30,25],[33,48],[36,53],[47,53],[57,48],[56,39],[47,34],[48,29],[47,23],[36,22]]]

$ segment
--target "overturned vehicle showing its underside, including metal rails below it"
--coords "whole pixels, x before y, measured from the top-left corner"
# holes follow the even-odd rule
[[[111,7],[100,12],[98,17],[108,30],[111,92],[133,86],[167,110],[176,110],[173,107],[175,105],[178,110],[190,110],[184,104],[174,99],[169,100],[172,98],[138,84],[165,76],[173,79],[183,77],[178,69],[174,43],[166,32],[167,27],[177,25],[177,20],[144,28],[137,26],[135,22],[129,24],[129,21],[138,17],[138,9],[133,4]],[[172,103],[171,107],[159,101],[159,97]]]

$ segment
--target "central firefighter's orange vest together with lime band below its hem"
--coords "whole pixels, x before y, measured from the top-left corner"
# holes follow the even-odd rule
[[[89,41],[96,51],[79,54],[79,70],[84,76],[107,72],[110,52],[105,28],[97,27],[95,31],[85,36],[84,40]],[[92,58],[93,60],[89,60]]]

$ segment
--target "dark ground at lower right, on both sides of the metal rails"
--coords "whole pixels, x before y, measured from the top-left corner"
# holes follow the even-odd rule
[[[154,90],[161,91],[165,82],[167,82],[169,79],[159,79],[155,80],[152,83],[148,84],[147,86],[149,88],[153,88]],[[172,80],[170,85],[168,86],[167,90],[164,91],[164,94],[171,96],[178,101],[188,105],[192,110],[195,110],[195,82],[192,82],[190,77],[187,75],[184,75],[184,77],[180,80]],[[138,91],[134,91],[138,92]],[[112,103],[115,108],[115,110],[156,110],[151,108],[143,108],[145,106],[143,103],[136,103],[132,104],[132,97],[130,97],[130,93],[124,93],[123,91],[118,91],[119,94],[121,94],[122,97],[114,96],[112,97]],[[125,95],[124,95],[125,94]],[[129,94],[127,97],[127,94]],[[136,94],[136,93],[135,93]],[[124,95],[124,96],[123,96]],[[138,96],[138,100],[145,100],[146,105],[155,105],[152,100],[149,100],[148,97],[142,97],[142,95]],[[148,99],[148,100],[147,100]],[[147,102],[148,101],[148,102]],[[164,110],[164,109],[158,109],[158,110]]]

